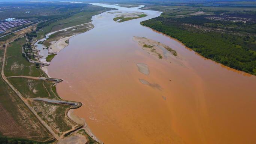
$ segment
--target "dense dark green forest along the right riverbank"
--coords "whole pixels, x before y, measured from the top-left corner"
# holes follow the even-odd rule
[[[196,23],[195,23],[196,22]],[[189,18],[157,17],[141,22],[142,25],[167,34],[193,49],[202,56],[220,62],[228,67],[256,75],[256,37],[249,34],[235,34],[226,31],[203,30],[205,25],[234,25],[232,22],[213,21],[202,16]],[[244,29],[252,24],[241,24]],[[192,27],[196,25],[196,27]],[[212,25],[212,26],[211,26]],[[243,29],[243,30],[244,30]],[[254,33],[255,30],[248,31]]]

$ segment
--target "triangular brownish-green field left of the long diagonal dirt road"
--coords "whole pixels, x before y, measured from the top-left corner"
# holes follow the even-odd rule
[[[0,49],[0,58],[3,58],[3,49]],[[2,61],[0,61],[2,65]],[[0,67],[1,70],[1,67]],[[9,134],[1,132],[10,139],[30,138],[32,140],[44,141],[51,137],[51,134],[37,120],[27,105],[16,95],[16,93],[0,78],[0,105],[11,117],[10,120],[2,120],[1,125],[6,126]],[[1,115],[1,117],[6,117]],[[15,126],[17,125],[17,126]],[[15,139],[18,140],[18,139]]]

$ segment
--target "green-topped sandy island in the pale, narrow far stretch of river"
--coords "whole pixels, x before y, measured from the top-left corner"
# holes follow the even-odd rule
[[[143,12],[136,12],[136,13],[121,13],[116,16],[117,16],[116,18],[113,18],[114,21],[124,22],[132,19],[143,18],[147,15],[144,14]]]

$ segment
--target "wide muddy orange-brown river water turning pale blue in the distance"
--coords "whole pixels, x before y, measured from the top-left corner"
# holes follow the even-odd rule
[[[148,15],[121,23],[108,12],[93,16],[95,28],[72,37],[48,67],[51,77],[64,80],[58,94],[83,103],[74,113],[97,138],[105,144],[256,143],[255,76],[205,59],[140,25],[161,12],[94,5]],[[182,64],[149,55],[133,36],[170,46]],[[138,63],[147,64],[150,74],[140,73]]]

